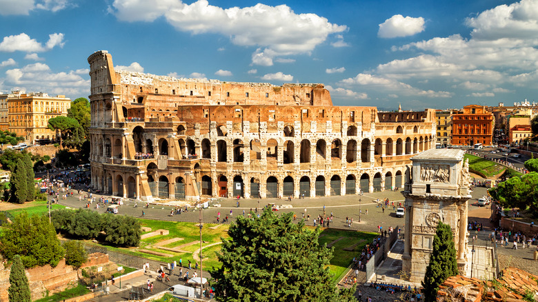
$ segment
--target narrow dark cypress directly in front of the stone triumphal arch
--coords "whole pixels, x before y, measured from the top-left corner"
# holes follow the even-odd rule
[[[463,239],[462,239],[463,240]],[[452,239],[450,225],[439,222],[437,231],[433,237],[433,250],[430,256],[430,264],[426,268],[424,281],[424,301],[437,301],[437,290],[449,276],[458,274],[458,263],[456,261],[456,249]]]

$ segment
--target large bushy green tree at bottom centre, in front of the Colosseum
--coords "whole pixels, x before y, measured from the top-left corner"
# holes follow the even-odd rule
[[[218,301],[339,301],[327,267],[332,249],[319,246],[319,228],[292,215],[266,209],[230,225],[217,253],[222,266],[211,272]]]

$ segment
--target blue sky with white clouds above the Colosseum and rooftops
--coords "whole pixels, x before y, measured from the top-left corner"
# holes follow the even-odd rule
[[[88,97],[88,61],[324,83],[384,110],[538,101],[538,0],[0,0],[0,92]]]

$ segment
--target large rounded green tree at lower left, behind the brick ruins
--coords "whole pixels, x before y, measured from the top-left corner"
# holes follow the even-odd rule
[[[6,225],[0,237],[0,251],[7,259],[19,254],[25,268],[36,265],[58,265],[65,251],[48,217],[21,212]]]

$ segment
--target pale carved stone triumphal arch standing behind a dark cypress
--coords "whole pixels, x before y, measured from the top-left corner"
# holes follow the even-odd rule
[[[406,197],[405,249],[403,272],[410,281],[420,282],[430,261],[433,237],[440,221],[450,225],[461,274],[467,270],[467,201],[470,174],[464,151],[428,150],[412,160],[410,179],[403,191]]]

